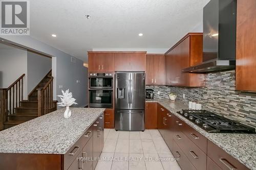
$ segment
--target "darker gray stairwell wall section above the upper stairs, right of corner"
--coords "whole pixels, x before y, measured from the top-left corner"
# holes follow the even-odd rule
[[[52,59],[28,52],[28,93],[52,69]]]

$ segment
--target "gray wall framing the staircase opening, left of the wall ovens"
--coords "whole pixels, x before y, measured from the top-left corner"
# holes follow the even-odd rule
[[[52,74],[54,77],[54,97],[61,93],[59,85],[63,89],[67,88],[73,92],[73,97],[77,99],[78,105],[75,107],[83,107],[88,104],[88,69],[83,66],[83,62],[76,59],[76,63],[71,63],[71,55],[58,50],[44,42],[38,41],[30,36],[0,36],[7,42],[13,42],[30,50],[42,52],[52,56]],[[86,52],[84,52],[86,55]],[[76,83],[77,79],[80,83]],[[56,98],[58,99],[58,98]],[[59,99],[58,99],[59,100]]]

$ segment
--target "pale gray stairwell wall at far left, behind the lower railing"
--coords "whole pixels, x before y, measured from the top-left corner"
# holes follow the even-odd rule
[[[0,49],[0,88],[8,88],[25,74],[24,100],[27,100],[27,51],[19,48]]]

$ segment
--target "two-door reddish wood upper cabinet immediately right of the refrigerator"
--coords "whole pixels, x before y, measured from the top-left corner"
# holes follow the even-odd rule
[[[146,85],[165,85],[164,55],[146,55]]]

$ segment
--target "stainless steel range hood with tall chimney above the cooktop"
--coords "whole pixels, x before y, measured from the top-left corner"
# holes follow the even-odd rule
[[[203,9],[203,62],[181,72],[206,73],[236,67],[237,0],[211,0]]]

